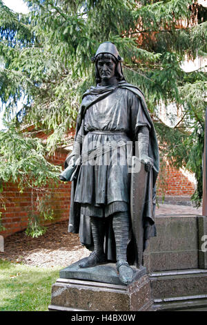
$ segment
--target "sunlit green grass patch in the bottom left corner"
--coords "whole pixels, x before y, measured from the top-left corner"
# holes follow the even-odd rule
[[[39,268],[0,260],[0,311],[45,311],[61,268]]]

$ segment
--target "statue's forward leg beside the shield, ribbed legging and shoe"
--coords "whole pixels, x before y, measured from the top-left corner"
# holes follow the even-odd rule
[[[128,265],[126,259],[126,249],[129,233],[128,212],[118,212],[114,214],[112,225],[115,232],[117,270],[119,272],[119,279],[124,284],[130,284],[133,277],[133,270]]]

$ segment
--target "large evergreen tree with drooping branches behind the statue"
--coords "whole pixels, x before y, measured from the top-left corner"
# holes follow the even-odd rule
[[[21,116],[0,132],[1,181],[19,179],[23,189],[57,179],[58,167],[45,157],[66,143],[81,95],[95,84],[90,57],[101,42],[112,41],[124,57],[126,80],[146,96],[161,156],[195,172],[199,204],[206,74],[202,69],[186,73],[181,62],[206,56],[206,8],[194,0],[26,3],[30,13],[20,15],[0,0],[0,98],[6,114],[24,97]],[[181,117],[173,128],[157,111],[159,104],[170,103]],[[21,131],[31,124],[48,134],[46,143],[32,131]]]

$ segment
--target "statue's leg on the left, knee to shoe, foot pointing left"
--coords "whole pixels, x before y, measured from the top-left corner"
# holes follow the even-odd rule
[[[104,241],[104,221],[101,218],[90,217],[92,228],[92,239],[94,242],[94,251],[84,261],[79,263],[80,268],[89,268],[96,266],[98,263],[106,261],[106,256],[103,251]]]

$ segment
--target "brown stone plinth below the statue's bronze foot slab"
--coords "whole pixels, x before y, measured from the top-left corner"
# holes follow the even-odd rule
[[[144,275],[128,286],[78,279],[57,279],[49,310],[150,310],[150,281]]]

